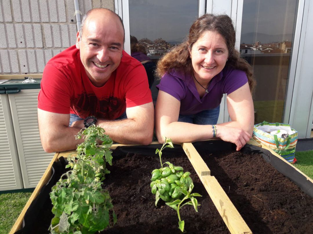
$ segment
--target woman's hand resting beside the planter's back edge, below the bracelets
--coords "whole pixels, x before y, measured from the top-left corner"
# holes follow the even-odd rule
[[[239,151],[250,140],[251,135],[240,128],[216,125],[216,137],[235,144]]]

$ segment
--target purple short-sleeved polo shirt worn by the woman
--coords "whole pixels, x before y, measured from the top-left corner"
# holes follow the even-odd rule
[[[213,77],[208,93],[200,98],[192,76],[173,69],[162,76],[160,84],[156,87],[180,101],[179,114],[193,115],[218,107],[223,94],[230,94],[247,82],[248,78],[244,71],[224,67]]]

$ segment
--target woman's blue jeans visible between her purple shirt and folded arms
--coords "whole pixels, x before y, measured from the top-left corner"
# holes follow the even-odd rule
[[[218,105],[218,107],[212,110],[203,110],[193,115],[179,115],[178,122],[185,122],[185,123],[199,124],[199,125],[217,124],[219,108],[220,108],[220,105]]]

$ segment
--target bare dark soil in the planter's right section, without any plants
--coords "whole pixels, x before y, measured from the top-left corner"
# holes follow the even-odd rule
[[[201,156],[253,233],[313,233],[313,198],[261,155]]]

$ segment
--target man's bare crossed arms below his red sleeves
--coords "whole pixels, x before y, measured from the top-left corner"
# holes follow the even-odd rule
[[[126,108],[127,119],[103,120],[96,124],[105,129],[113,141],[122,144],[150,144],[153,136],[154,107],[147,103]],[[84,120],[75,121],[69,127],[69,114],[57,114],[38,109],[38,123],[41,144],[46,152],[60,152],[76,149],[83,139],[75,135],[84,128]]]

